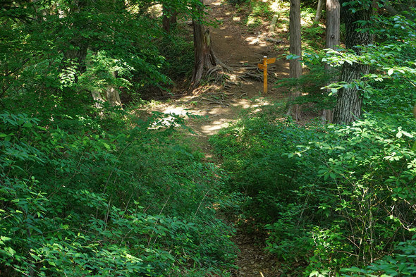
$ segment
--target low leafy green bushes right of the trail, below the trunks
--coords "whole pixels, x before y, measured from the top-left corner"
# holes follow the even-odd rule
[[[415,133],[402,121],[305,129],[269,119],[245,118],[212,140],[231,187],[250,195],[245,217],[267,230],[267,250],[308,273],[338,272],[412,236]]]

